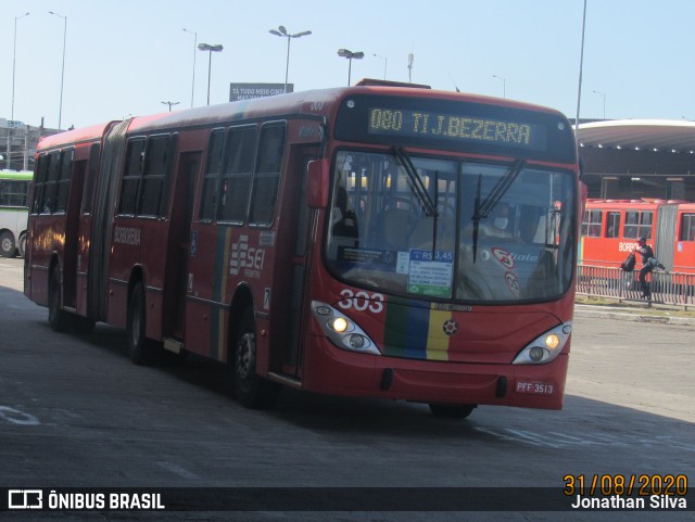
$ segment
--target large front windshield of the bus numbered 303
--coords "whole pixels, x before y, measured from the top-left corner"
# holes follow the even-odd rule
[[[569,170],[341,150],[333,177],[325,254],[346,283],[467,304],[548,301],[570,285]]]

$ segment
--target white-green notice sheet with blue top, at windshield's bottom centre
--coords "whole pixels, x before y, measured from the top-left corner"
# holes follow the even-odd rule
[[[412,250],[408,266],[408,292],[434,297],[451,297],[454,275],[453,252]]]

